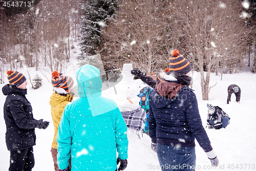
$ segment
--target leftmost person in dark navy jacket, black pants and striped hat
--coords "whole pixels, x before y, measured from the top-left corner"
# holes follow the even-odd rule
[[[6,145],[10,151],[9,171],[30,171],[34,167],[33,146],[35,129],[46,129],[49,122],[33,117],[32,107],[26,98],[28,82],[17,71],[7,71],[10,84],[2,91],[6,97],[4,119],[6,123]]]

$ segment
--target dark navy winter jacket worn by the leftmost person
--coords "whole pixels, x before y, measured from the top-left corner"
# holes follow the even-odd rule
[[[10,84],[2,88],[6,101],[4,119],[6,123],[6,145],[8,150],[22,150],[35,145],[35,126],[32,107],[25,95],[27,89],[20,89]]]

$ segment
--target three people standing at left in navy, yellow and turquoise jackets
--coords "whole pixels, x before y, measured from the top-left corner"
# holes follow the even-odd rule
[[[26,77],[8,71],[9,84],[2,89],[6,145],[10,150],[9,171],[34,167],[35,128],[46,129],[48,121],[36,120],[26,98]],[[79,98],[73,101],[74,80],[52,72],[54,92],[50,97],[54,124],[52,158],[55,171],[124,170],[127,167],[127,127],[116,103],[101,97],[99,69],[84,65],[77,71]],[[116,156],[118,153],[118,157]]]

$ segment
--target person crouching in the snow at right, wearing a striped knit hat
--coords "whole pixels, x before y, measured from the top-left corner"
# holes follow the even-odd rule
[[[208,128],[225,128],[229,124],[230,117],[219,106],[212,106],[207,103],[208,116],[207,126]]]

